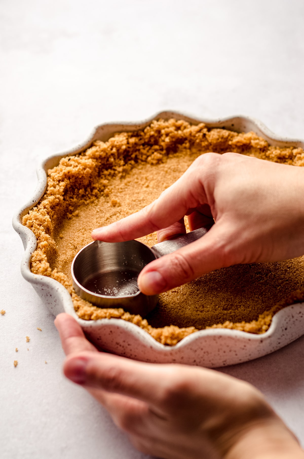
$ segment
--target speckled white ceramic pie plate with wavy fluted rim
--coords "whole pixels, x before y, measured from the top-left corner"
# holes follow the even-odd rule
[[[38,186],[32,199],[13,218],[13,227],[20,235],[25,249],[21,265],[23,277],[33,285],[39,297],[54,315],[61,312],[71,314],[82,326],[85,334],[98,347],[136,360],[158,363],[175,362],[214,368],[246,362],[286,346],[304,334],[304,303],[288,306],[276,313],[269,330],[261,335],[227,329],[200,330],[186,336],[176,346],[171,347],[160,344],[137,325],[122,319],[79,319],[74,311],[72,299],[63,285],[50,277],[36,275],[30,271],[31,255],[36,248],[37,241],[34,233],[21,222],[23,216],[43,196],[46,189],[47,170],[57,166],[62,157],[86,150],[95,140],[106,141],[119,131],[143,129],[153,119],[158,118],[182,119],[192,124],[203,122],[209,128],[225,128],[236,132],[254,131],[264,137],[270,145],[304,148],[304,141],[278,137],[259,121],[243,116],[198,120],[180,113],[161,112],[141,123],[108,123],[97,126],[83,144],[49,157],[43,162],[37,171]]]

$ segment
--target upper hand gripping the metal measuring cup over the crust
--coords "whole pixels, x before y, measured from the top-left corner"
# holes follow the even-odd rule
[[[214,269],[274,262],[304,254],[304,168],[237,153],[205,153],[149,206],[93,239],[127,241],[158,230],[158,241],[211,227],[201,239],[149,263],[140,290],[157,294]]]

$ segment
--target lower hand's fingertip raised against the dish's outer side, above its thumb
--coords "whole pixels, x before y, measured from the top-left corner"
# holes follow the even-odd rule
[[[54,324],[59,332],[62,348],[66,355],[82,351],[97,352],[96,347],[84,336],[80,325],[69,314],[58,314],[54,320]]]

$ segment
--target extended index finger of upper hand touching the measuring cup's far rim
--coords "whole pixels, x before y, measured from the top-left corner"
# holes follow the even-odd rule
[[[220,155],[217,153],[207,155],[199,157],[199,162],[197,158],[180,179],[163,191],[156,201],[122,220],[95,229],[92,238],[105,242],[136,239],[174,224],[183,218],[190,208],[195,209],[199,205],[208,204],[202,186],[202,174],[205,172],[205,180],[208,180],[211,175],[208,174],[208,168],[204,167],[206,162],[204,157],[215,164],[219,161]],[[212,191],[209,196],[212,196]]]

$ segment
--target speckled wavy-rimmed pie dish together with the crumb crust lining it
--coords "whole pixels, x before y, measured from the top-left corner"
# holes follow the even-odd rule
[[[93,228],[144,207],[203,152],[298,167],[303,146],[246,117],[200,121],[162,112],[142,123],[101,125],[39,168],[37,190],[13,220],[25,247],[22,274],[54,314],[70,313],[92,342],[119,355],[218,367],[270,353],[304,333],[303,257],[214,271],[162,294],[144,320],[81,300],[70,265]],[[140,240],[156,243],[155,235]]]

